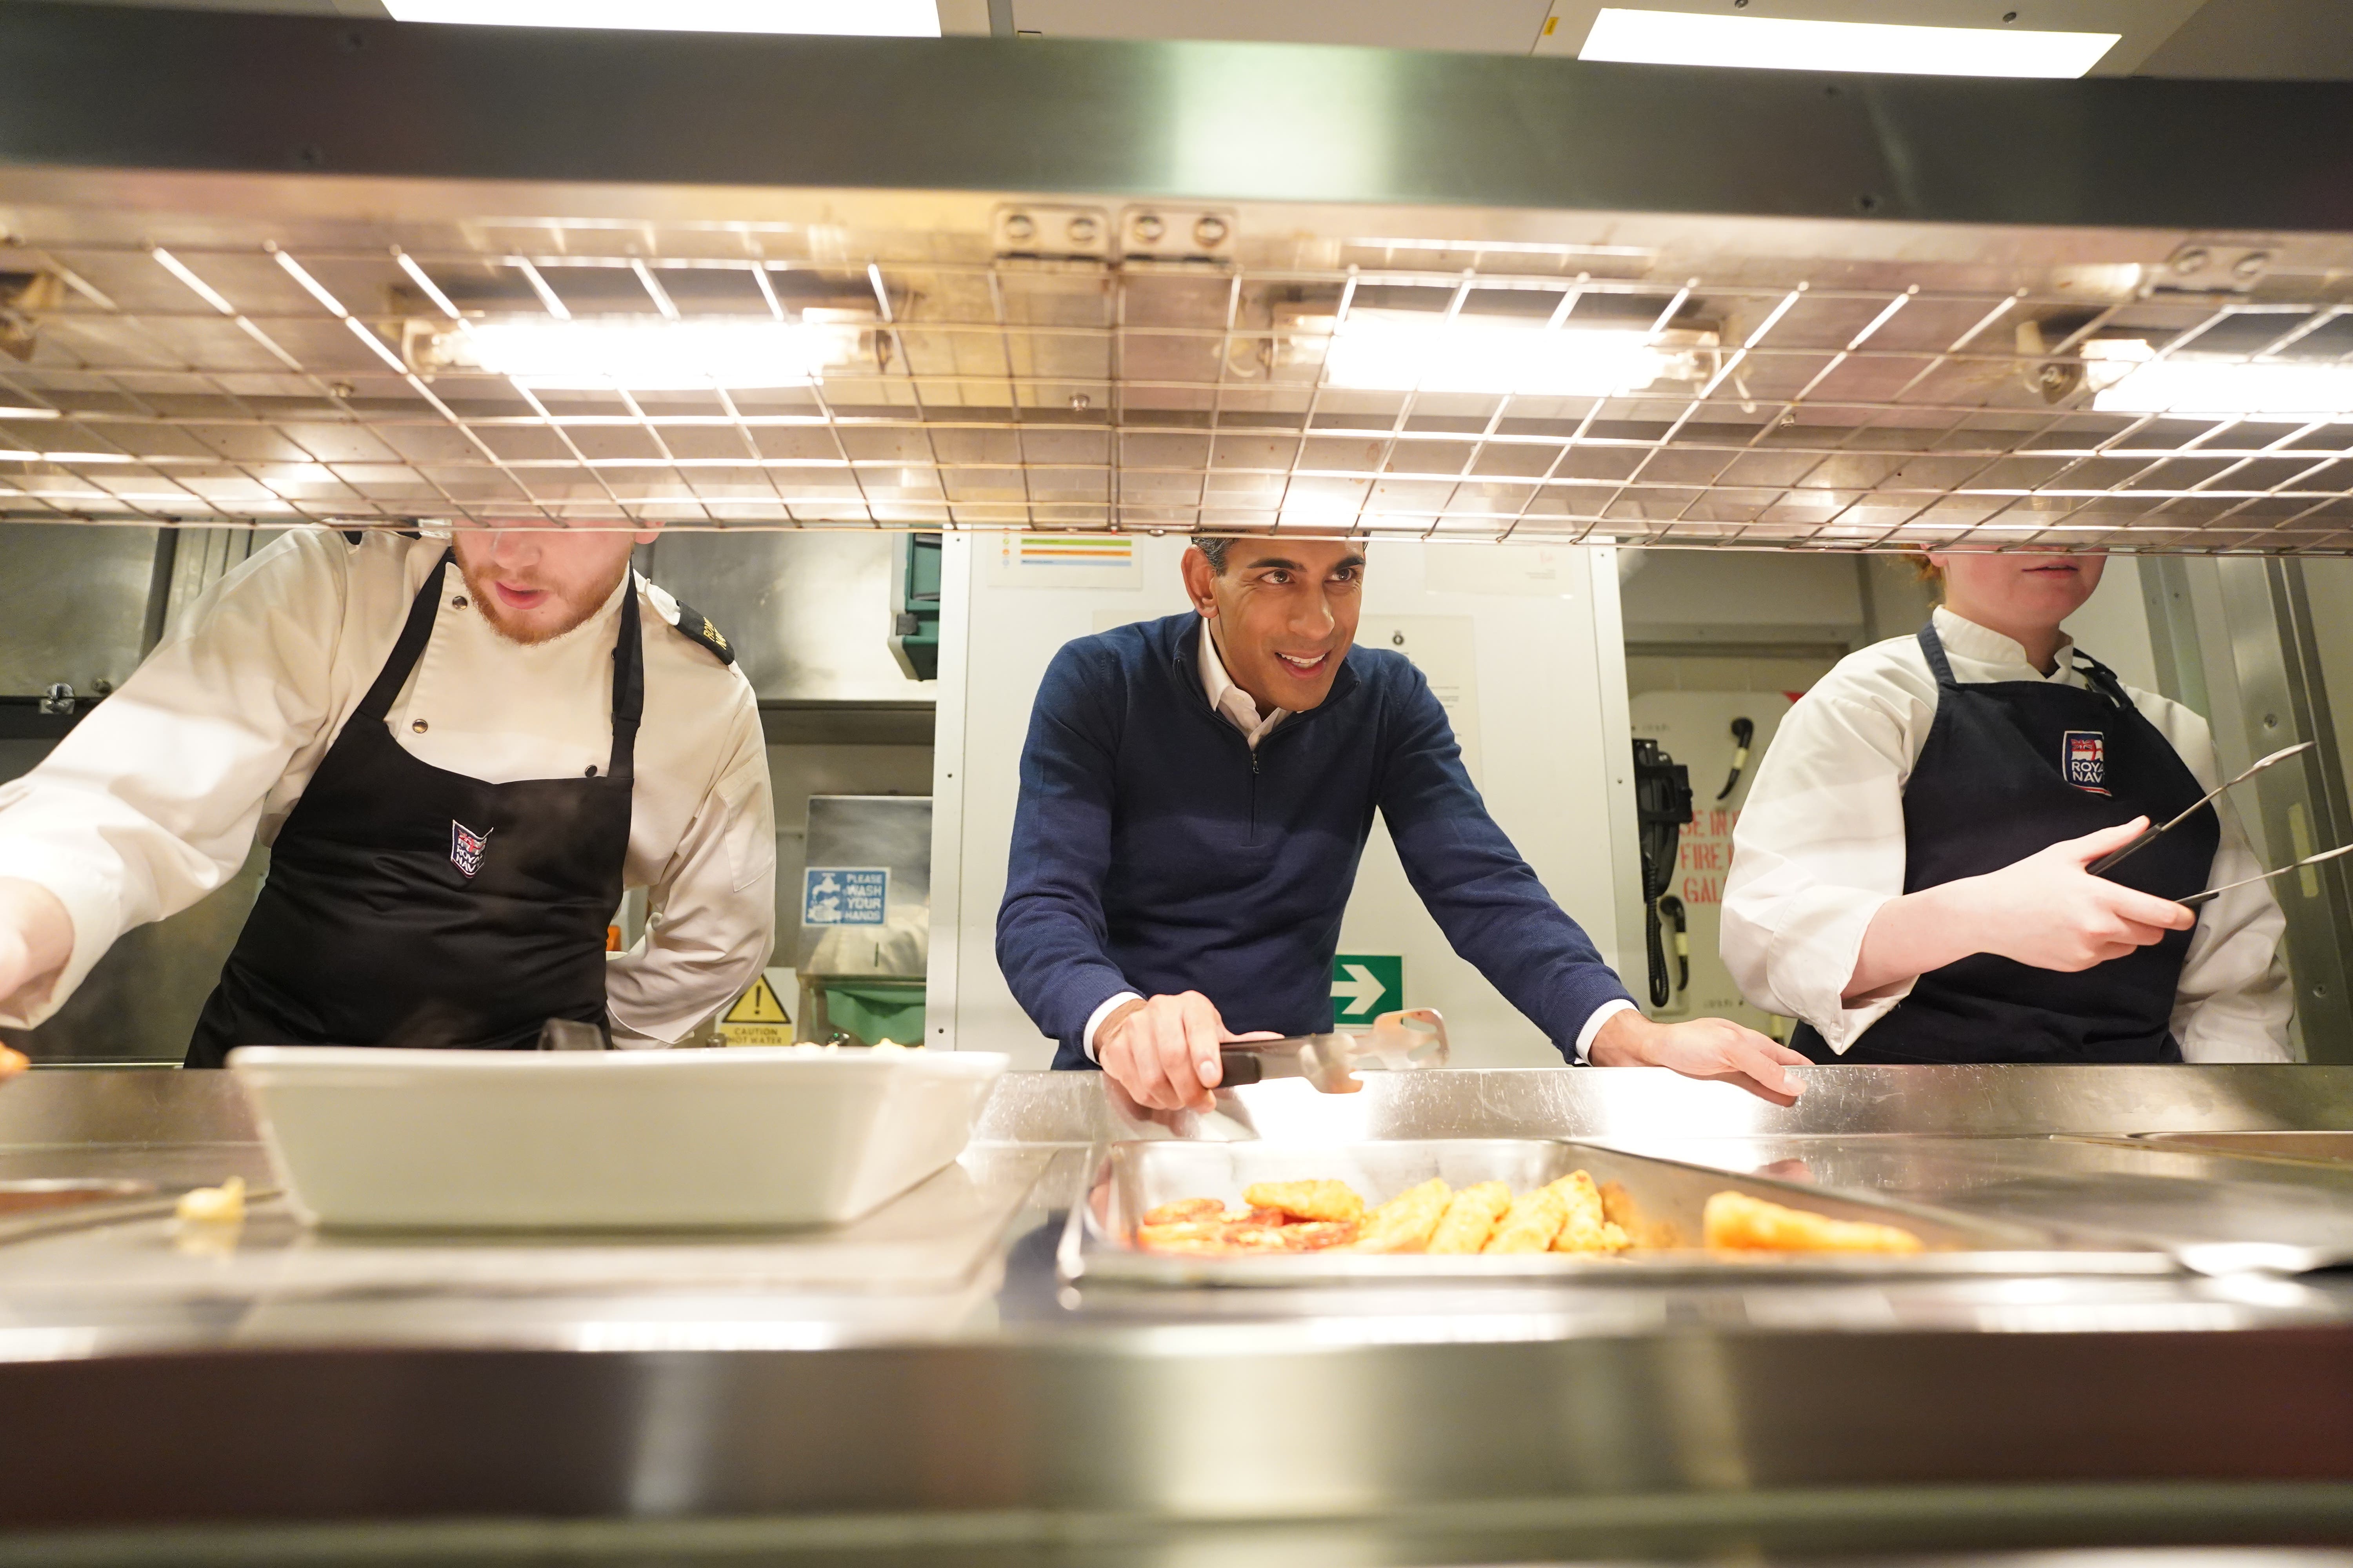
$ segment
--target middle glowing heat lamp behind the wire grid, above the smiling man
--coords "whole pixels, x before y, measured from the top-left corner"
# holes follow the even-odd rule
[[[1612,397],[1668,374],[1689,378],[1692,355],[1654,346],[1638,327],[1551,329],[1421,310],[1355,310],[1325,353],[1325,381],[1365,393]]]

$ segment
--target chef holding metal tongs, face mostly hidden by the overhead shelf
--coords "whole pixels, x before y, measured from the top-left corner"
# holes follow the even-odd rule
[[[2097,555],[1937,552],[1918,637],[1840,661],[1781,719],[1732,832],[1722,954],[1819,1063],[2287,1060],[2285,919],[2205,719],[2059,630]]]

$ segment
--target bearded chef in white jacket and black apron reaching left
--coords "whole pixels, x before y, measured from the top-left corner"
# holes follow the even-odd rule
[[[299,529],[0,788],[0,1023],[271,870],[188,1044],[664,1046],[774,936],[776,835],[725,637],[616,527]],[[605,957],[626,886],[645,940]]]

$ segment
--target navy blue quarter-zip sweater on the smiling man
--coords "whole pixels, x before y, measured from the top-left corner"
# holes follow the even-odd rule
[[[1506,999],[1567,1056],[1628,999],[1487,816],[1414,665],[1351,649],[1320,708],[1252,752],[1200,686],[1200,616],[1064,644],[1021,748],[998,966],[1087,1067],[1120,992],[1198,990],[1235,1032],[1332,1027],[1332,954],[1379,809],[1405,875]]]

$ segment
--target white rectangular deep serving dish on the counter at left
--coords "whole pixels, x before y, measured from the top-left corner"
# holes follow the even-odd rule
[[[984,1051],[245,1046],[228,1067],[315,1225],[838,1225],[955,1161]]]

